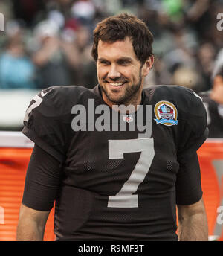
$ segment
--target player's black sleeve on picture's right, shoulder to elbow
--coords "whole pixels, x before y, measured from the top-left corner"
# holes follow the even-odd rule
[[[207,114],[198,95],[190,89],[184,90],[184,109],[179,113],[181,125],[178,130],[178,163],[176,179],[176,202],[190,205],[202,196],[201,173],[196,151],[208,135]],[[180,121],[179,121],[180,122]]]

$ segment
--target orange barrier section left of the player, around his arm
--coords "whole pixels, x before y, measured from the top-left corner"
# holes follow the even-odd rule
[[[33,149],[0,148],[0,241],[15,241],[25,172]],[[44,240],[54,240],[54,211],[48,217]]]

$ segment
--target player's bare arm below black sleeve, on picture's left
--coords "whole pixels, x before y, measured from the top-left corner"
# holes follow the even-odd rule
[[[17,227],[17,241],[42,241],[50,211],[36,211],[21,205]]]

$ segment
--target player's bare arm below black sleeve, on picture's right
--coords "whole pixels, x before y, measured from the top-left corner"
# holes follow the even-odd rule
[[[193,205],[178,205],[180,241],[207,241],[208,226],[203,199]]]

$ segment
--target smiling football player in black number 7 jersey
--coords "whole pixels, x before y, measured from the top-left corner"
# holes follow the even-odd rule
[[[190,89],[143,89],[152,40],[135,16],[106,18],[92,48],[99,84],[33,97],[17,240],[43,239],[54,202],[56,240],[207,240],[196,154],[206,112]]]

